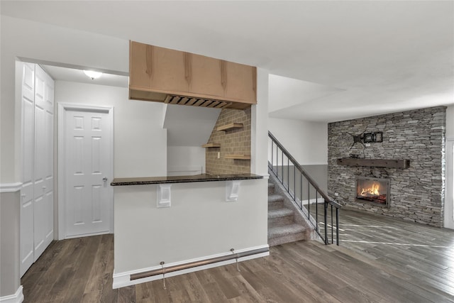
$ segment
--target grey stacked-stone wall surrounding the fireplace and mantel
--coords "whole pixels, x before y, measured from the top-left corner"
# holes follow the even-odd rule
[[[443,226],[445,198],[445,107],[328,123],[328,194],[350,209]],[[348,133],[383,132],[382,143],[363,148]],[[338,158],[409,159],[408,169],[350,167]],[[389,208],[355,202],[355,176],[389,179]]]

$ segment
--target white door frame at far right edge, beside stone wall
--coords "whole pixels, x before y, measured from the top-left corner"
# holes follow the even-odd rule
[[[446,145],[446,183],[445,183],[445,207],[444,224],[445,228],[454,229],[454,139],[447,139]]]

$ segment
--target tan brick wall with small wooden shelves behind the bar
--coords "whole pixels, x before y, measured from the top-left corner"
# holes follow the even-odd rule
[[[243,123],[243,128],[217,131],[228,123]],[[206,148],[206,173],[212,175],[250,173],[250,160],[225,159],[226,155],[250,155],[250,107],[223,109],[218,116],[208,143],[221,143],[221,148]],[[218,158],[218,153],[221,153]]]

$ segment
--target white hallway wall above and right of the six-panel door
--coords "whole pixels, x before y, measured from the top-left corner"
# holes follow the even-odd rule
[[[114,176],[159,177],[167,173],[163,104],[128,100],[128,89],[55,82],[57,103],[114,106]],[[57,124],[55,124],[57,125]]]

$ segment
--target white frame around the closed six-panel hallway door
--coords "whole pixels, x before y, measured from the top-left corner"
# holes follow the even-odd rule
[[[109,115],[108,123],[111,129],[109,142],[110,173],[106,177],[114,179],[114,106],[92,106],[87,104],[58,103],[58,239],[66,238],[66,216],[65,216],[65,124],[66,111],[90,111],[103,112]],[[114,233],[114,189],[109,190],[109,201],[111,204],[109,233]]]

